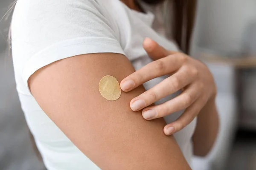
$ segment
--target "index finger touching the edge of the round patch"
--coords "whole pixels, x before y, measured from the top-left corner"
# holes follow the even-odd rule
[[[156,61],[150,62],[138,71],[129,75],[120,83],[122,91],[131,91],[156,77],[177,71],[186,57],[181,54],[174,54]]]

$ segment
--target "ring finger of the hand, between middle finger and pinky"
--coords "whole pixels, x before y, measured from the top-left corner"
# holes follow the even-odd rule
[[[188,108],[199,98],[200,95],[200,88],[193,84],[174,99],[160,105],[145,108],[142,115],[146,120],[167,116],[171,113],[175,113],[176,111]]]

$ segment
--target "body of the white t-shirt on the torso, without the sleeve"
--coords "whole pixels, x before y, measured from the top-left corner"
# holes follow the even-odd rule
[[[108,0],[108,2],[106,0],[97,0],[97,3],[101,6],[101,13],[109,21],[110,27],[115,33],[118,33],[116,34],[116,39],[119,40],[125,55],[132,62],[136,70],[152,61],[142,46],[145,37],[150,37],[166,49],[178,50],[174,42],[167,40],[163,34],[156,32],[158,28],[152,28],[154,22],[153,13],[141,13],[131,10],[119,0]],[[19,61],[14,56],[14,63],[16,65],[17,62]],[[20,80],[21,77],[17,67],[15,68],[15,78],[27,123],[35,136],[35,142],[47,168],[49,170],[99,170],[41,110],[33,96],[26,89],[26,84]],[[146,82],[144,86],[146,89],[149,89],[163,79],[165,77],[158,77]],[[156,104],[172,99],[177,94],[169,95],[156,102]],[[183,112],[170,114],[164,119],[166,123],[173,122],[181,113]],[[174,134],[188,162],[192,158],[191,138],[195,125],[196,119],[183,130]]]

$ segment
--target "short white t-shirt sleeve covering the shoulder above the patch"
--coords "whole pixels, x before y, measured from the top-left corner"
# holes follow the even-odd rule
[[[12,20],[14,67],[27,84],[39,68],[80,54],[124,54],[96,0],[20,0]],[[111,18],[109,18],[111,19]]]

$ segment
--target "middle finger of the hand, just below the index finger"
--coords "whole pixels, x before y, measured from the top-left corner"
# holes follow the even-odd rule
[[[192,74],[187,67],[181,67],[180,70],[173,74],[171,77],[164,79],[159,84],[155,85],[153,88],[145,91],[140,96],[135,97],[131,100],[131,109],[133,111],[139,111],[148,105],[173,94],[176,91],[189,85],[196,78],[195,74]],[[190,93],[190,91],[188,91]],[[186,97],[185,94],[182,96]],[[189,94],[190,95],[190,94]],[[191,96],[194,97],[194,96]],[[169,114],[170,112],[166,113]],[[159,116],[161,116],[160,114]]]

